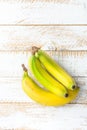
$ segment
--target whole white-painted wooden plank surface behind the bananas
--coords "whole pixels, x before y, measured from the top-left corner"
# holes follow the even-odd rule
[[[0,130],[87,130],[86,24],[86,0],[0,1]],[[72,103],[44,107],[22,91],[21,64],[32,45],[75,78],[80,92]]]

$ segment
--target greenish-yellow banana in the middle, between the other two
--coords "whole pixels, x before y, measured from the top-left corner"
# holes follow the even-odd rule
[[[46,89],[58,96],[68,97],[67,89],[61,83],[56,81],[51,75],[49,75],[49,73],[41,66],[40,61],[35,57],[35,55],[30,57],[28,63],[35,78]]]

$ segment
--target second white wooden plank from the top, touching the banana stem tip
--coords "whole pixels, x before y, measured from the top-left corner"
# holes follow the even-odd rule
[[[87,50],[87,26],[0,26],[0,50]]]

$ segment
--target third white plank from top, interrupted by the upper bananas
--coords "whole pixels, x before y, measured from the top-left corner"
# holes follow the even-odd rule
[[[47,51],[72,76],[87,76],[87,51]],[[30,52],[0,52],[0,77],[21,77]]]

